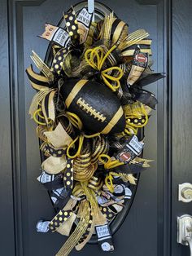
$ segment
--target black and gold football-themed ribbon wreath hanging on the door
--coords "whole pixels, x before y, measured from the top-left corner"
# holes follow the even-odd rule
[[[26,69],[37,90],[29,114],[41,141],[41,175],[55,208],[37,232],[69,236],[57,256],[82,249],[97,236],[114,250],[111,225],[133,197],[142,158],[143,127],[157,99],[143,87],[164,77],[151,69],[151,39],[113,11],[94,21],[87,7],[63,14],[65,26],[46,24],[51,64],[33,51]]]

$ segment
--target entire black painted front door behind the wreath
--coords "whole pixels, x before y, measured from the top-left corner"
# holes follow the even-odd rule
[[[46,21],[57,24],[75,0],[0,1],[0,202],[1,256],[52,256],[64,237],[41,234],[37,220],[53,216],[46,191],[37,182],[40,155],[35,125],[28,117],[34,91],[24,69],[31,50],[42,58],[48,46],[36,36]],[[191,204],[177,200],[179,183],[192,182],[192,2],[190,0],[103,0],[129,23],[153,38],[154,69],[164,81],[149,86],[159,104],[146,128],[144,157],[154,159],[141,175],[133,206],[116,232],[114,255],[181,256],[189,248],[177,245],[177,216],[192,214]],[[79,255],[104,255],[86,245]],[[72,255],[77,255],[76,251]]]

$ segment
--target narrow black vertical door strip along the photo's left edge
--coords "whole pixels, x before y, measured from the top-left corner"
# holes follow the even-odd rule
[[[0,240],[0,255],[15,255],[14,214],[13,214],[13,187],[12,187],[12,160],[11,152],[11,108],[9,76],[9,48],[7,43],[7,1],[0,3],[0,226],[2,229]]]

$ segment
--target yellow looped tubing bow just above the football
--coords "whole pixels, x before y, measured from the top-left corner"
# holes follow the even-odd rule
[[[110,67],[104,70],[102,70],[102,68],[105,60],[107,60],[107,57],[115,49],[116,45],[112,46],[111,49],[107,51],[107,53],[105,53],[102,46],[97,46],[93,49],[88,49],[87,51],[85,51],[85,60],[87,61],[87,63],[95,70],[101,72],[103,82],[113,91],[116,91],[120,87],[120,78],[123,77],[123,70],[120,67]],[[113,70],[116,70],[119,73],[117,77],[113,77],[109,74]],[[111,82],[116,82],[116,85],[113,86]]]

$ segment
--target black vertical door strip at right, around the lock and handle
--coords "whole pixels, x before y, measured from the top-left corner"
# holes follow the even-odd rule
[[[192,2],[174,1],[172,9],[172,255],[188,256],[175,236],[177,216],[192,215],[192,203],[177,200],[178,184],[192,183]]]

